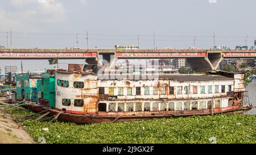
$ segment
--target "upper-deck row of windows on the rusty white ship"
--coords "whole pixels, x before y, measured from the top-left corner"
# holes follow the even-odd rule
[[[63,86],[63,87],[69,87],[69,82],[65,80],[57,80],[57,85],[58,86]],[[73,86],[75,88],[84,88],[84,82],[73,82]],[[198,94],[198,86],[191,86],[192,87],[192,93],[193,94]],[[191,91],[190,86],[184,86],[184,91],[185,94],[189,94]],[[206,86],[199,86],[200,87],[200,94],[206,94],[205,87]],[[175,87],[169,87],[169,94],[175,94],[174,92]],[[182,94],[183,87],[182,86],[177,86],[177,95]],[[219,86],[215,85],[214,86],[214,91],[213,91],[213,86],[207,86],[207,92],[208,94],[214,93],[220,93]],[[228,85],[228,91],[232,91],[232,85]],[[160,87],[160,94],[161,95],[166,95],[167,92],[167,87]],[[221,85],[221,93],[226,93],[226,85]],[[99,87],[99,94],[105,94],[105,87]],[[132,87],[127,87],[127,95],[132,95],[133,94],[133,88]],[[158,95],[158,87],[153,87],[152,93],[150,93],[150,87],[144,87],[144,95]],[[114,87],[109,87],[109,95],[114,95]],[[118,87],[118,95],[123,95],[123,87]],[[141,87],[136,87],[136,95],[142,95],[141,94]]]

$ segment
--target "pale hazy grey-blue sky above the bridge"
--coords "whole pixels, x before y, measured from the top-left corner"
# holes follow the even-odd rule
[[[253,0],[1,0],[0,45],[64,48],[113,48],[138,44],[142,48],[184,48],[253,45],[256,39],[256,1]],[[0,60],[3,68],[15,61]],[[30,62],[30,61],[28,61]],[[36,66],[42,69],[48,66]],[[41,61],[40,61],[41,62]],[[42,61],[45,62],[45,61]],[[18,62],[19,63],[19,62]],[[26,64],[25,64],[26,65]]]

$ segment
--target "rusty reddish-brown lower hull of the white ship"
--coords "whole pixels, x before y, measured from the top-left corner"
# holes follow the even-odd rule
[[[127,112],[99,112],[98,115],[81,115],[67,113],[57,109],[50,109],[52,115],[57,115],[57,120],[61,122],[73,122],[77,124],[101,123],[101,122],[125,122],[135,120],[148,120],[158,118],[177,118],[193,115],[216,115],[216,114],[242,114],[249,111],[253,106],[230,106],[225,108],[215,108],[213,110],[186,110],[186,111],[157,111],[138,112],[137,115],[127,115]]]

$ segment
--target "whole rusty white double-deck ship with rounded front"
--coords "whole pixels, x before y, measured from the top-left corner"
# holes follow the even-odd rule
[[[121,122],[189,115],[237,114],[250,110],[243,74],[159,74],[158,76],[57,71],[58,120]]]

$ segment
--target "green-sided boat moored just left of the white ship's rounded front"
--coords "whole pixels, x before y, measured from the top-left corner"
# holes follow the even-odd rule
[[[55,107],[55,70],[40,74],[16,74],[16,99],[23,107],[42,112]]]

